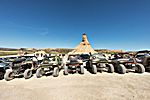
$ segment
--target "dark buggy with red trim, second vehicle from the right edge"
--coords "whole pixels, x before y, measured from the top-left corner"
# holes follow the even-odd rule
[[[115,71],[120,74],[125,74],[126,72],[134,71],[136,73],[144,73],[145,68],[142,64],[138,63],[136,58],[130,57],[128,54],[128,58],[124,58],[124,55],[128,53],[119,53],[120,56],[118,58],[112,59],[112,64],[114,65]],[[117,57],[118,54],[116,54]]]

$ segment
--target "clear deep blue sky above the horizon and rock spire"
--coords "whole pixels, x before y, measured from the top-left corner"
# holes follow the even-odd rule
[[[0,47],[150,49],[150,0],[0,0]]]

